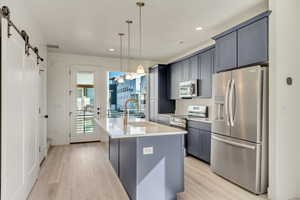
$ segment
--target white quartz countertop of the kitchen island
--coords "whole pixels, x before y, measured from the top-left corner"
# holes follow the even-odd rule
[[[129,118],[126,130],[124,129],[123,118],[106,118],[105,121],[106,122],[101,123],[95,119],[97,125],[111,138],[178,135],[187,133],[187,131],[183,129],[149,122],[139,118]]]

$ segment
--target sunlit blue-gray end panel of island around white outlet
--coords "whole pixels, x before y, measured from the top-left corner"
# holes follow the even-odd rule
[[[144,155],[145,147],[153,147],[153,154]],[[183,135],[138,139],[137,199],[175,200],[184,191],[183,150]]]

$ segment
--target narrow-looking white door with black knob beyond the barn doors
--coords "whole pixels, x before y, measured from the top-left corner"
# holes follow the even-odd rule
[[[47,68],[39,68],[39,161],[47,156]]]

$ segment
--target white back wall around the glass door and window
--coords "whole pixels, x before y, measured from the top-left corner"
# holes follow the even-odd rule
[[[141,61],[145,67],[156,62]],[[140,61],[132,60],[128,71],[135,71]],[[69,68],[72,66],[95,66],[108,71],[120,71],[117,58],[49,53],[48,56],[48,136],[53,145],[69,144]],[[101,75],[106,79],[106,74]],[[101,100],[106,107],[106,95]]]

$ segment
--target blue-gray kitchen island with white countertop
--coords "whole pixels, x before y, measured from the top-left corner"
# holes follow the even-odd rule
[[[184,191],[187,132],[143,119],[107,118],[100,131],[109,136],[109,159],[132,200],[173,200]]]

